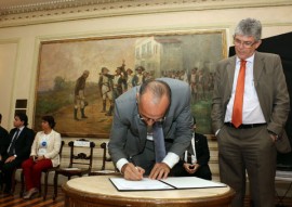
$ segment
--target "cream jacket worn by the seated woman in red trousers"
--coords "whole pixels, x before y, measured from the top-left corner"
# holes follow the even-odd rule
[[[38,151],[43,134],[44,134],[43,131],[39,131],[37,133],[31,146],[30,156],[38,156]],[[59,147],[61,147],[61,134],[52,130],[51,133],[49,134],[47,153],[44,154],[44,157],[52,160],[53,167],[59,165]]]

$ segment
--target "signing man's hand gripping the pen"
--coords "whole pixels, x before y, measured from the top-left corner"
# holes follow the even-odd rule
[[[125,180],[142,180],[145,173],[143,168],[134,166],[132,163],[123,165],[121,171]]]

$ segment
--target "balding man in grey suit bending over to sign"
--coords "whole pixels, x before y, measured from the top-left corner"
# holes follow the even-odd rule
[[[191,126],[189,86],[170,78],[148,80],[116,100],[109,154],[125,179],[167,178],[190,143]],[[158,129],[162,139],[155,135]],[[158,140],[164,142],[162,159],[156,157]]]

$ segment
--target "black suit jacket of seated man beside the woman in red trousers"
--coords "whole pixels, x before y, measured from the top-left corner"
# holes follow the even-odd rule
[[[8,147],[11,143],[11,140],[13,139],[13,135],[17,128],[14,128],[9,133],[9,142]],[[35,139],[35,132],[32,129],[29,129],[27,127],[24,127],[24,129],[18,134],[18,138],[15,142],[15,154],[17,155],[16,159],[18,160],[25,160],[29,157],[30,154],[30,147]],[[6,154],[8,155],[8,154]]]

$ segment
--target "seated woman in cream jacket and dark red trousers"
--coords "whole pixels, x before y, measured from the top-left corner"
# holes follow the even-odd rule
[[[36,134],[30,157],[22,164],[27,190],[25,199],[39,192],[41,171],[59,165],[61,134],[53,130],[54,127],[54,117],[42,117],[42,131]]]

